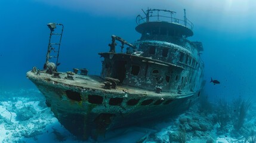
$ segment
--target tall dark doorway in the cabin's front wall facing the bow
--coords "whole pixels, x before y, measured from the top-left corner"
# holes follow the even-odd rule
[[[120,83],[122,83],[125,79],[125,65],[127,61],[115,61],[115,71],[113,73],[113,77],[115,79],[119,79]]]

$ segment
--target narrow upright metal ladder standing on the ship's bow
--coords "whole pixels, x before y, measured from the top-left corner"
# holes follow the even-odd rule
[[[45,62],[48,63],[52,58],[56,58],[55,66],[57,71],[57,67],[58,65],[60,65],[60,63],[58,63],[58,55],[60,53],[60,43],[61,43],[64,26],[63,24],[60,24],[60,23],[48,23],[47,26],[49,27],[51,32],[50,32],[50,38],[49,38]],[[61,30],[58,30],[58,32],[54,32],[57,26],[60,26]]]

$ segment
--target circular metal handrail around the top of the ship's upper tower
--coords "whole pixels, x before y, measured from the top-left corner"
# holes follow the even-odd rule
[[[159,12],[162,14],[159,14]],[[142,17],[140,14],[138,14],[136,17],[137,24],[147,23],[150,21],[167,21],[170,23],[181,24],[183,26],[188,27],[191,30],[193,30],[193,27],[194,27],[194,24],[186,18],[186,10],[185,9],[184,9],[184,20],[173,17],[173,14],[176,13],[175,11],[148,9],[146,11],[146,13],[144,11],[143,11],[143,13],[146,15],[146,17]],[[166,16],[166,14],[169,14],[169,16]]]

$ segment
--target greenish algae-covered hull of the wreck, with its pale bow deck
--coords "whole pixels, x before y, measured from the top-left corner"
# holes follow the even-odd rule
[[[97,139],[108,130],[179,113],[198,97],[198,92],[159,95],[125,86],[104,89],[97,76],[76,74],[75,80],[67,80],[66,76],[62,73],[55,78],[47,73],[27,72],[61,125],[80,139]]]

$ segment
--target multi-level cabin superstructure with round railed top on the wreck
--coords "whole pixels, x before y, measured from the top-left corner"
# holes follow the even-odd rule
[[[157,12],[154,17],[153,12]],[[196,91],[199,85],[195,80],[202,76],[201,42],[190,42],[186,38],[193,36],[193,24],[187,20],[172,17],[170,21],[161,20],[161,10],[147,10],[146,17],[138,15],[138,26],[141,38],[135,45],[129,44],[118,36],[112,36],[110,51],[99,53],[102,61],[101,77],[119,80],[119,85],[166,92]],[[186,14],[186,13],[185,13]],[[153,20],[156,18],[157,20]],[[183,24],[182,24],[183,23]],[[127,52],[115,52],[115,40],[127,44]],[[113,50],[114,49],[114,50]],[[131,49],[131,50],[129,50]]]

